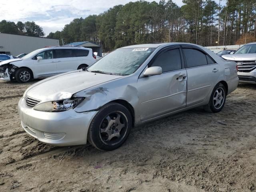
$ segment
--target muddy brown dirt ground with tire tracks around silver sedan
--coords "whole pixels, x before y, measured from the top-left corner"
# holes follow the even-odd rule
[[[102,152],[26,134],[17,104],[32,83],[0,81],[1,192],[256,191],[256,85],[239,85],[218,114],[196,108],[156,120]]]

